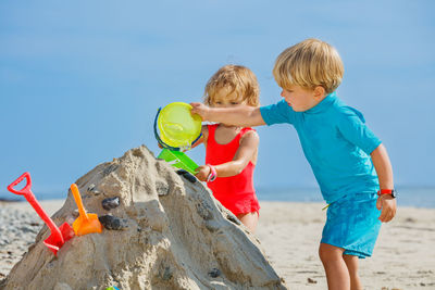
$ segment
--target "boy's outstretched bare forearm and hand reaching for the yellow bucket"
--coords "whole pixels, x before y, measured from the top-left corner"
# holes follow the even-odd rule
[[[198,114],[202,121],[224,123],[233,126],[253,127],[265,125],[260,108],[240,105],[237,108],[209,108],[202,103],[190,103],[191,113]]]

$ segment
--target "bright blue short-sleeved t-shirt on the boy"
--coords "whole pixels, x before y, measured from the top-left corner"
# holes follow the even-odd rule
[[[378,190],[370,154],[381,140],[365,126],[362,114],[347,106],[335,92],[304,112],[293,111],[284,99],[260,108],[260,112],[268,125],[295,126],[327,203],[349,193]]]

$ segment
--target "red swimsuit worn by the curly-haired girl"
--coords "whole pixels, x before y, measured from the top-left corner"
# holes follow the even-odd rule
[[[240,146],[240,138],[252,128],[243,128],[237,136],[226,144],[220,144],[214,139],[214,133],[219,124],[208,125],[209,138],[206,149],[206,164],[219,165],[234,159]],[[253,189],[252,174],[256,165],[249,162],[244,171],[235,176],[217,177],[214,181],[207,182],[213,196],[222,205],[233,214],[247,214],[259,212],[260,204]]]

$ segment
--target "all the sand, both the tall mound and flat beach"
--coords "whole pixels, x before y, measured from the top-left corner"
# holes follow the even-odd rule
[[[203,184],[144,146],[75,182],[88,212],[121,227],[74,237],[55,257],[30,205],[0,202],[0,289],[327,288],[318,256],[324,204],[260,201],[252,234]],[[105,209],[114,197],[120,203]],[[41,203],[58,225],[77,217],[71,193]],[[435,210],[399,207],[374,256],[360,260],[364,289],[435,289],[434,245]]]

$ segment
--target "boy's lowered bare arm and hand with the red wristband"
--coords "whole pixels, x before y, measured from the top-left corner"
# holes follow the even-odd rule
[[[387,150],[383,144],[380,144],[371,153],[374,168],[380,179],[381,189],[394,189],[393,168],[389,162]],[[387,223],[396,215],[397,203],[396,199],[389,194],[381,194],[377,198],[376,207],[382,209],[380,220]]]

